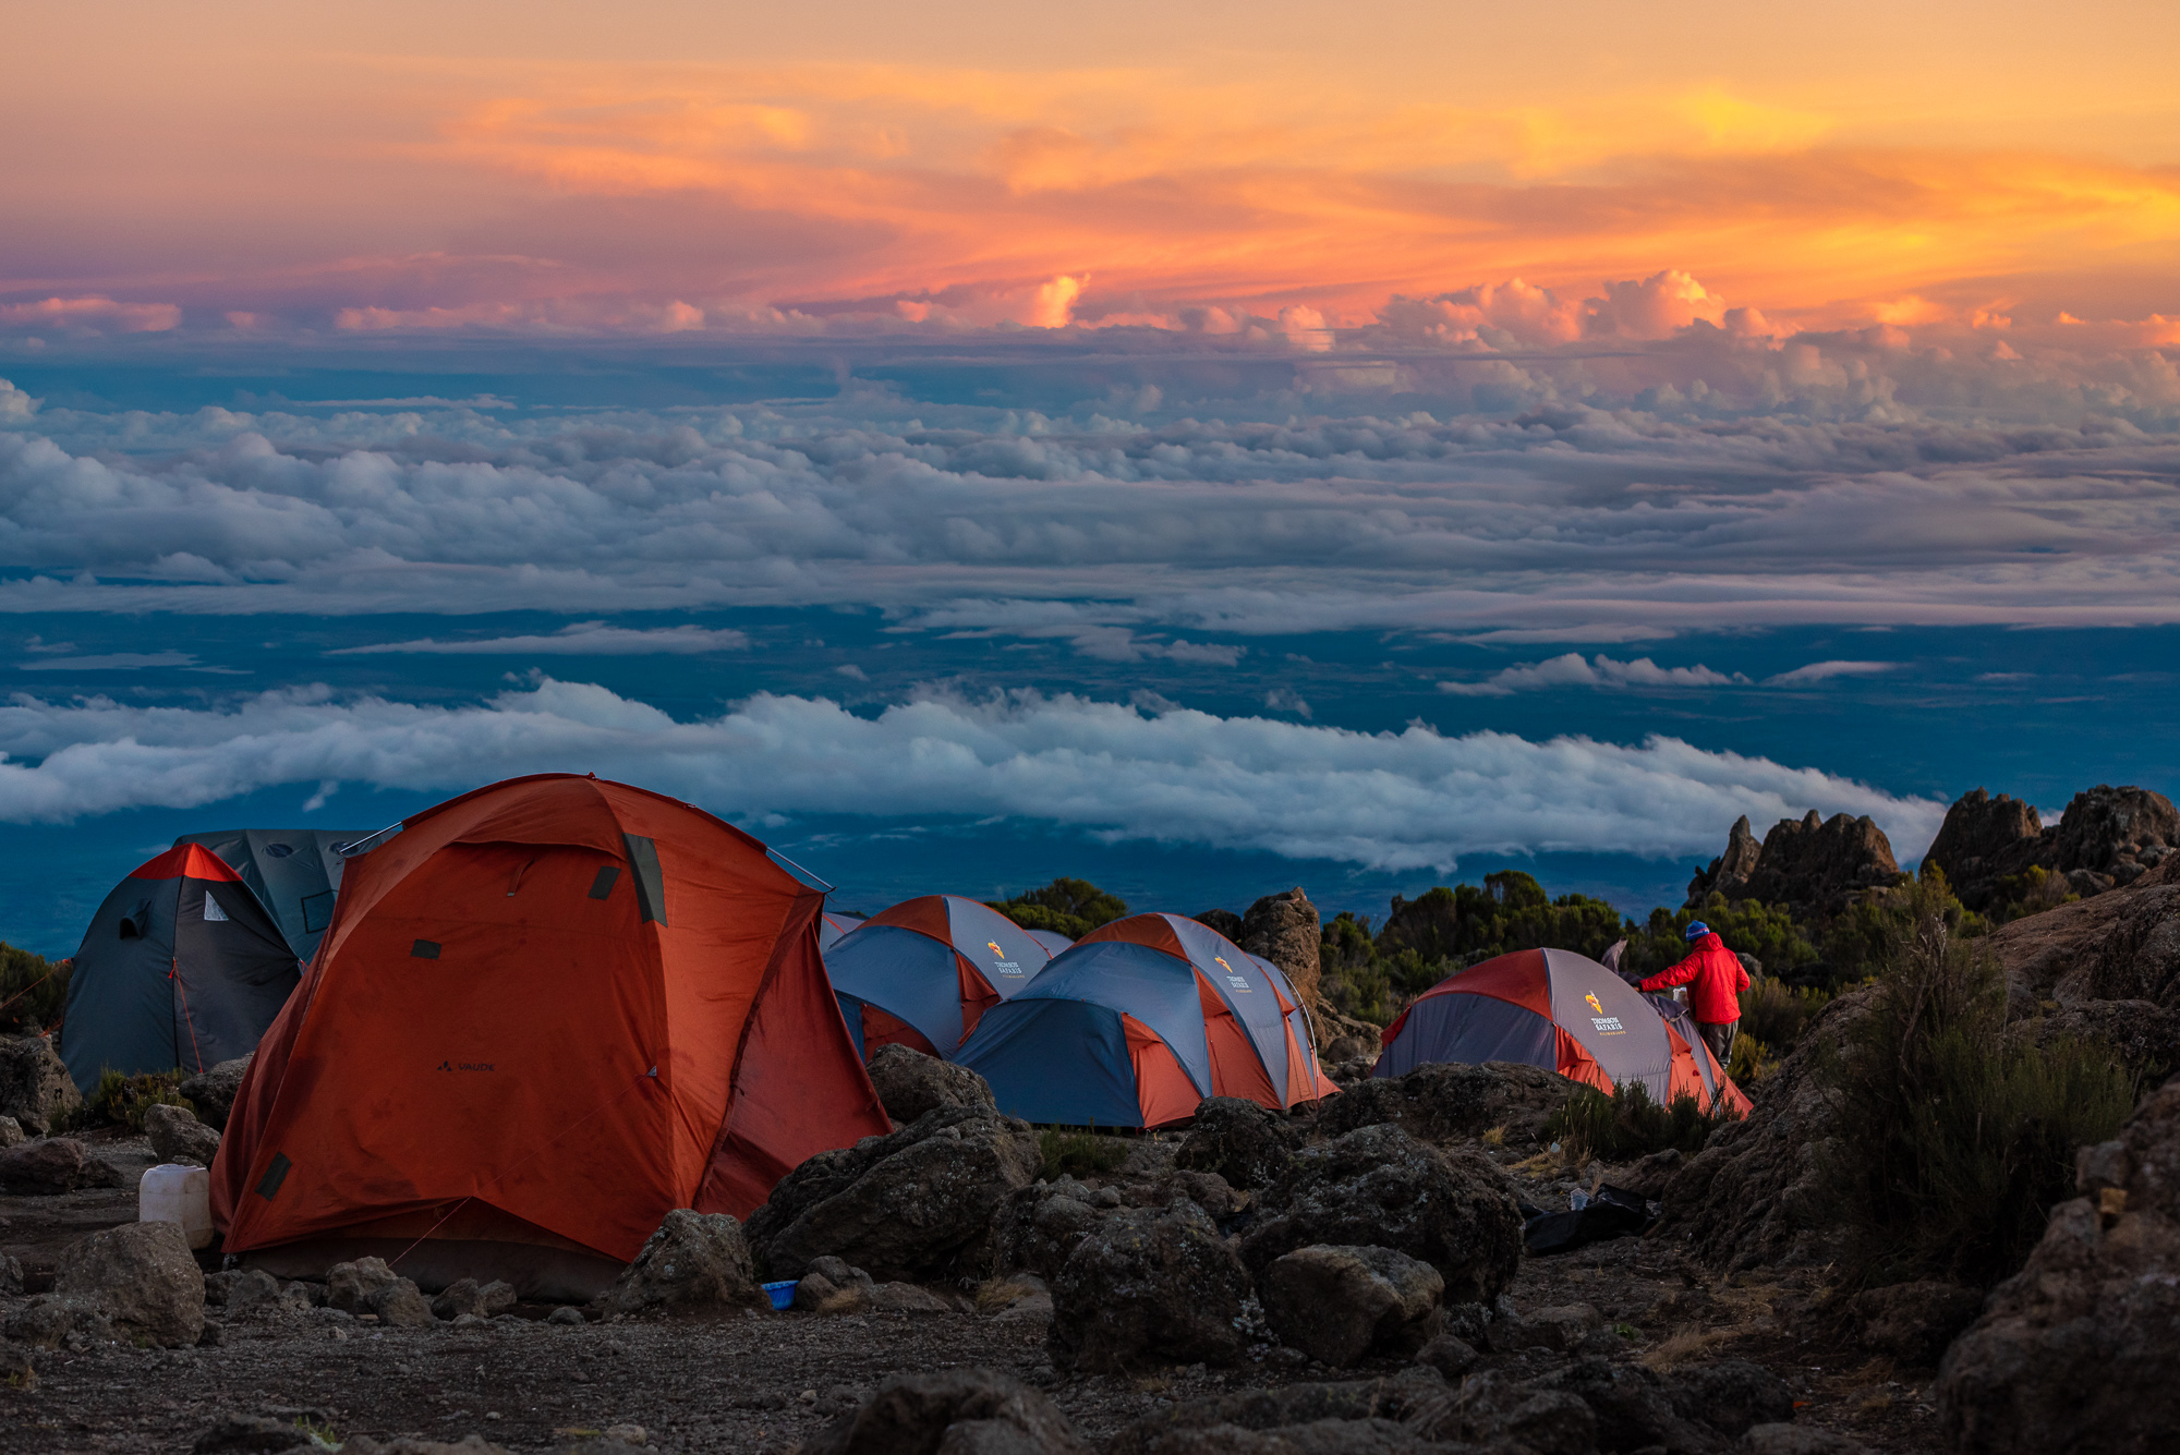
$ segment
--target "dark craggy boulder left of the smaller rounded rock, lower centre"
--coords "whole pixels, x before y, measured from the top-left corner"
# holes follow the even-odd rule
[[[1249,1274],[1195,1202],[1105,1218],[1053,1276],[1059,1368],[1234,1364]]]

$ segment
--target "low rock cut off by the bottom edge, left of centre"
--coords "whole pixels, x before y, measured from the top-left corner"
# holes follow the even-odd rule
[[[802,1455],[1090,1455],[1042,1394],[996,1370],[887,1374],[855,1411],[802,1442]]]

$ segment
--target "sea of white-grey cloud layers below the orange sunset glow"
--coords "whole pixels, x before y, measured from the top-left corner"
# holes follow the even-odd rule
[[[1206,673],[1264,634],[1535,643],[1441,682],[1487,701],[1809,690],[1892,667],[1757,682],[1576,643],[2180,619],[2180,377],[2160,349],[1775,338],[1759,318],[1622,327],[1600,349],[1611,329],[1550,298],[1476,290],[1395,301],[1369,329],[1308,322],[1040,342],[1027,362],[1062,396],[1036,405],[933,403],[900,381],[1022,364],[1003,335],[970,340],[988,359],[872,344],[883,370],[841,344],[835,399],[717,407],[532,407],[508,386],[70,409],[0,383],[0,612],[316,614],[351,638],[375,614],[445,616],[336,649],[386,660],[735,653],[732,627],[615,616],[739,606],[879,606],[907,640],[1059,640]],[[569,623],[462,625],[512,608]],[[460,706],[312,682],[198,682],[172,701],[20,682],[0,708],[9,821],[270,784],[451,791],[573,760],[746,819],[1009,815],[1393,869],[1700,854],[1740,812],[1803,808],[1870,812],[1912,856],[1940,815],[1853,765],[1674,738],[1367,734],[1027,682],[859,712],[761,693],[691,721],[556,677]]]

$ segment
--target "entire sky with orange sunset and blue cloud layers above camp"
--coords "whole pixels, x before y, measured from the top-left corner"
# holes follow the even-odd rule
[[[9,35],[13,943],[549,769],[846,908],[1371,915],[2180,780],[2171,7]]]

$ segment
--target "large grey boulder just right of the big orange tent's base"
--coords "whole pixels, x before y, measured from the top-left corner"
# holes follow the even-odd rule
[[[1001,1211],[1042,1165],[1027,1122],[935,1106],[887,1137],[811,1157],[743,1231],[770,1279],[800,1279],[824,1255],[879,1281],[983,1276]]]

